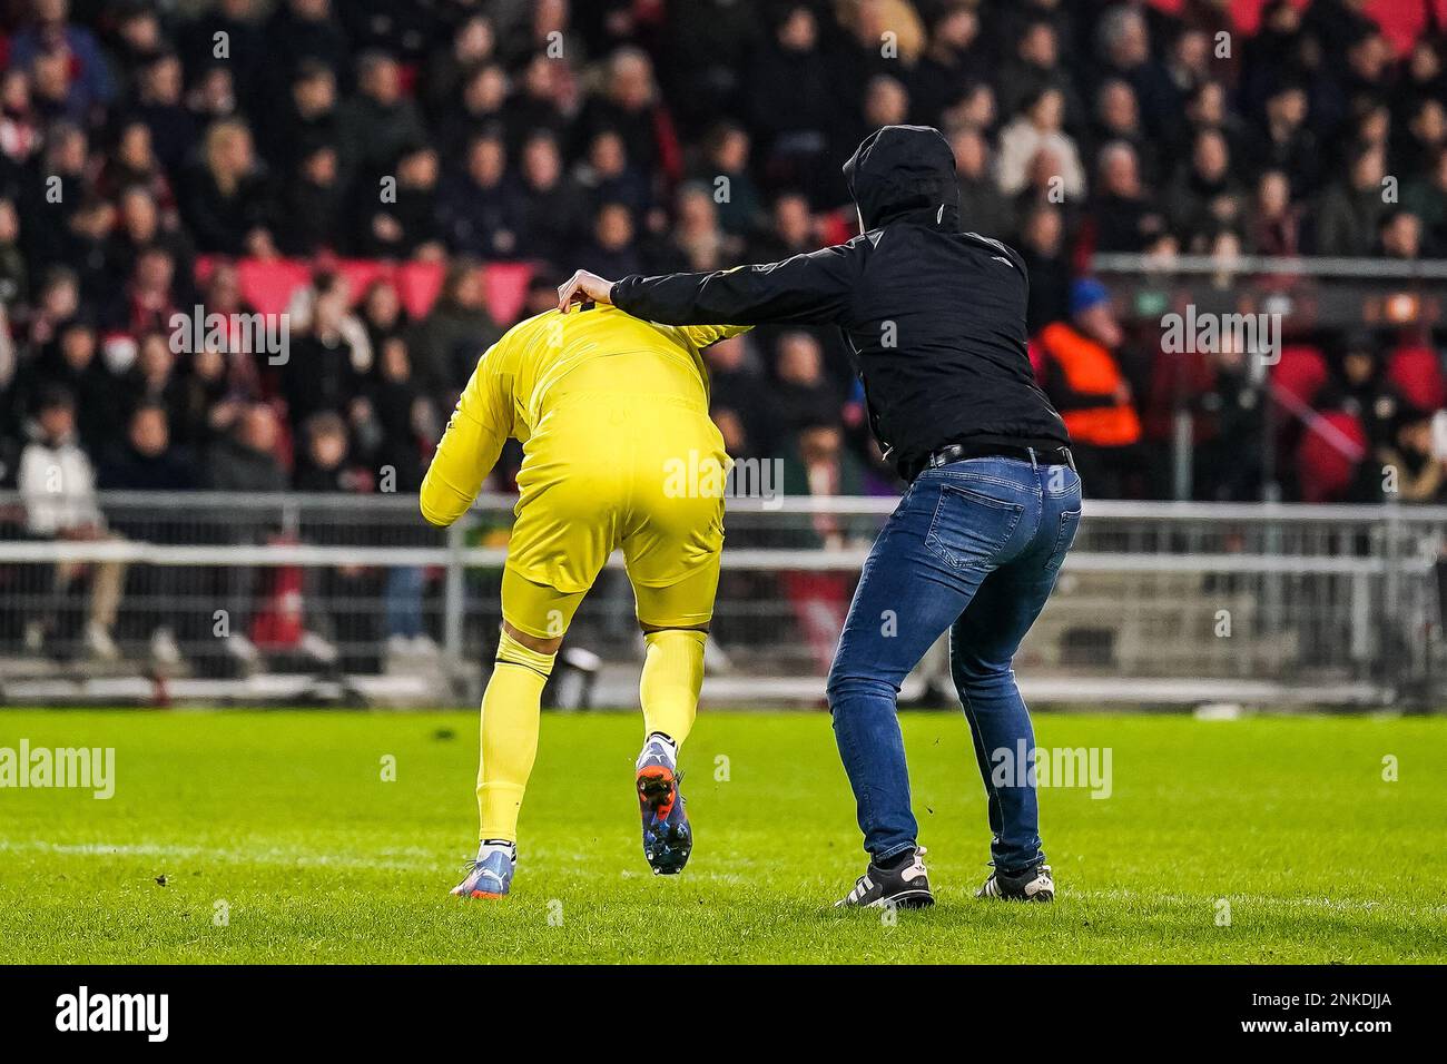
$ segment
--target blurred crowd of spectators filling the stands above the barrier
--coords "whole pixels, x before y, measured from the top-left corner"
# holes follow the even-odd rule
[[[1198,498],[1379,499],[1385,466],[1401,498],[1447,498],[1431,334],[1298,343],[1310,387],[1268,428],[1242,352],[1165,358],[1088,275],[1092,252],[1447,256],[1441,28],[1393,46],[1363,0],[1270,0],[1223,54],[1230,3],[1172,7],[0,4],[0,488],[64,470],[26,531],[69,537],[107,534],[104,488],[412,491],[479,352],[574,266],[848,239],[839,162],[916,122],[955,151],[965,226],[1029,262],[1032,356],[1088,494],[1166,497],[1185,410]],[[236,323],[295,262],[278,359]],[[357,284],[356,262],[381,266]],[[198,307],[230,332],[178,342]],[[833,334],[760,329],[708,360],[731,453],[800,491],[894,489]]]

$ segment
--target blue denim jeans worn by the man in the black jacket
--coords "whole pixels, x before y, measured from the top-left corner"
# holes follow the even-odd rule
[[[829,709],[875,861],[912,850],[909,769],[894,699],[949,630],[949,663],[990,799],[991,857],[1016,873],[1043,857],[1035,731],[1010,667],[1055,588],[1081,520],[1069,466],[977,457],[926,469],[864,563],[829,670]],[[1020,751],[1026,763],[1014,770]],[[993,770],[1006,759],[1010,770]]]

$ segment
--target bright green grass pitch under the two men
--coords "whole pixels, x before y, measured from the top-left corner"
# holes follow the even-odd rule
[[[676,879],[641,854],[638,717],[547,715],[514,895],[464,903],[475,714],[0,711],[0,747],[116,748],[110,801],[0,789],[0,961],[1447,960],[1447,719],[1036,724],[1113,751],[1110,798],[1042,792],[1056,905],[974,899],[965,724],[906,714],[939,905],[891,921],[829,908],[862,854],[822,712],[700,715]]]

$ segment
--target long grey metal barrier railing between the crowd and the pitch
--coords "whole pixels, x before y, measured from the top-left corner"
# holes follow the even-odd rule
[[[719,698],[818,701],[894,502],[729,501]],[[56,537],[0,494],[0,701],[287,699],[311,688],[266,677],[320,676],[363,699],[470,704],[512,504],[483,497],[437,530],[399,495],[103,494],[103,528]],[[1017,667],[1061,701],[1434,705],[1444,530],[1447,508],[1087,501]],[[616,666],[627,686],[605,692],[631,698],[638,636],[618,557],[569,644]],[[912,685],[945,686],[938,660]]]

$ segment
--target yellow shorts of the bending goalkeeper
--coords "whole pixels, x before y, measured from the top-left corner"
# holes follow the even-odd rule
[[[708,624],[726,472],[724,437],[692,395],[559,398],[524,444],[504,620],[540,638],[561,636],[621,547],[640,622]]]

